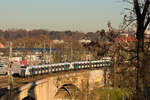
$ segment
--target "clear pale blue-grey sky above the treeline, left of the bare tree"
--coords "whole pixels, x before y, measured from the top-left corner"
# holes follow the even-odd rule
[[[119,28],[118,0],[0,0],[0,29],[96,32],[111,21]]]

